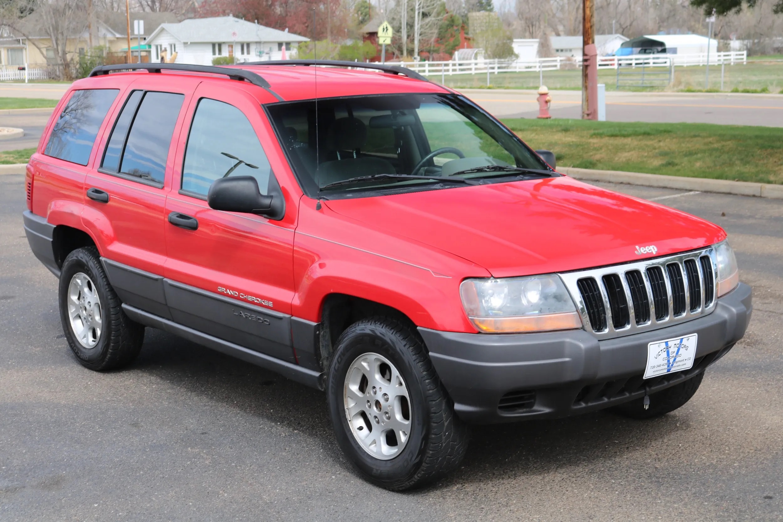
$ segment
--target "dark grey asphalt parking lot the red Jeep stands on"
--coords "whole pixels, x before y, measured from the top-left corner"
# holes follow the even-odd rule
[[[783,520],[783,205],[612,188],[726,228],[745,339],[665,418],[478,427],[457,473],[391,493],[348,466],[323,394],[280,376],[150,329],[131,368],[82,368],[23,178],[0,176],[0,520]]]

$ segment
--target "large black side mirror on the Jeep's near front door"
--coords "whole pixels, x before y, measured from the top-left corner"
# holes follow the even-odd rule
[[[207,204],[215,210],[247,212],[269,219],[283,219],[285,214],[283,196],[262,195],[258,190],[258,181],[253,176],[215,179],[207,193]]]

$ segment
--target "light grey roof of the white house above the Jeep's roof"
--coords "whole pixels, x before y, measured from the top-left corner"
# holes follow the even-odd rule
[[[189,18],[179,24],[161,24],[147,38],[152,40],[166,30],[180,42],[309,42],[309,38],[253,24],[233,16]],[[235,36],[236,34],[236,36]]]

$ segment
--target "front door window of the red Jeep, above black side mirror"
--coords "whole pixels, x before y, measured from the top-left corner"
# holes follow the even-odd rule
[[[199,101],[190,125],[182,190],[206,196],[215,179],[253,176],[269,192],[271,168],[253,125],[242,111],[217,100]]]

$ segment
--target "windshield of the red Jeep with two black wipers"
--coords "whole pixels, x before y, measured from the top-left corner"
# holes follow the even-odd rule
[[[302,188],[313,198],[557,176],[460,96],[327,98],[317,100],[317,116],[316,100],[266,107]]]

